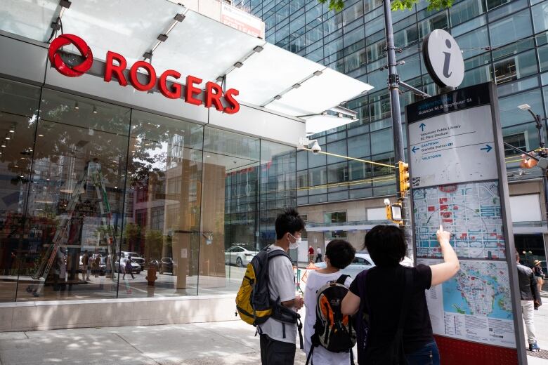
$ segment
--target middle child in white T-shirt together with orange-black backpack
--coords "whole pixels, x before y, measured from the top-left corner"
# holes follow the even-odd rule
[[[334,239],[325,248],[325,269],[311,272],[306,281],[304,306],[304,349],[307,364],[351,364],[355,329],[351,318],[341,314],[351,277],[339,270],[350,265],[355,248],[343,239]]]

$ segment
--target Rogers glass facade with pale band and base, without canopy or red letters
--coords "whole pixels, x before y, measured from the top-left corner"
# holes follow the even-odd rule
[[[98,60],[66,77],[14,34],[0,48],[0,329],[233,318],[296,205],[304,121],[107,83]]]

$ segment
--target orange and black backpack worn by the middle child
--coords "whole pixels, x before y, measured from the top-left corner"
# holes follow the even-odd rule
[[[314,347],[318,346],[331,352],[350,352],[351,364],[354,364],[352,347],[356,343],[356,333],[353,319],[341,312],[342,300],[348,293],[344,285],[346,278],[348,275],[341,275],[337,281],[330,281],[316,291],[316,322],[307,365]]]

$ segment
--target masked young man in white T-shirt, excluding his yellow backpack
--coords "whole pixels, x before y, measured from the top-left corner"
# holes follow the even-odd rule
[[[296,209],[286,208],[276,218],[276,241],[268,248],[273,250],[289,251],[297,248],[301,243],[301,230],[304,229],[304,220]],[[304,300],[295,294],[295,277],[293,264],[285,255],[271,258],[268,262],[268,290],[270,300],[277,300],[287,308],[300,310]],[[295,359],[295,340],[297,324],[278,321],[272,317],[259,325],[261,333],[261,364],[262,365],[291,365]]]

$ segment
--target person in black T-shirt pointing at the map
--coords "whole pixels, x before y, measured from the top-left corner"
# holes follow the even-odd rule
[[[369,316],[367,335],[357,333],[358,364],[440,364],[424,291],[453,277],[460,265],[450,233],[440,226],[436,237],[444,263],[405,267],[400,265],[407,253],[403,230],[377,225],[365,235],[376,266],[358,274],[342,303],[342,314],[360,310]]]

